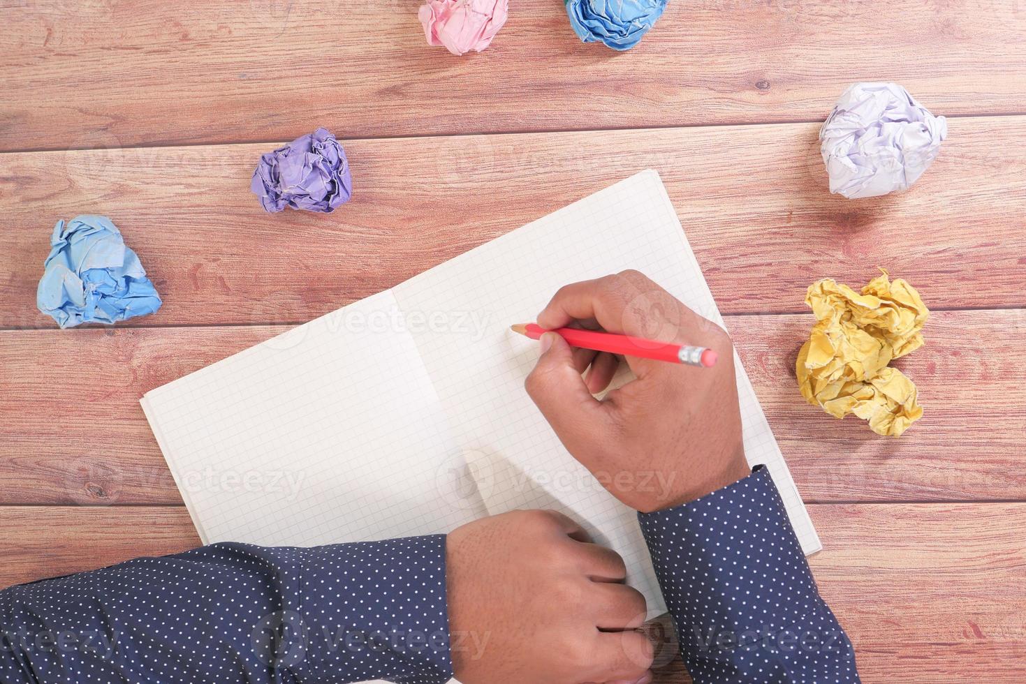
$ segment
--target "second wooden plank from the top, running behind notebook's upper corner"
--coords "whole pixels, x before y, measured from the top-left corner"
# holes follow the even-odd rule
[[[1021,307],[1024,127],[954,120],[911,192],[854,202],[827,192],[812,124],[357,140],[354,199],[326,216],[260,208],[267,146],[3,155],[0,327],[54,326],[35,290],[60,217],[107,214],[140,253],[165,304],[130,325],[303,322],[646,167],[724,313],[801,313],[815,278],[877,265],[934,308]]]

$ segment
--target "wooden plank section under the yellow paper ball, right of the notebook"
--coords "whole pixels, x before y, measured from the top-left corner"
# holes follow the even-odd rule
[[[745,368],[805,500],[1026,500],[1026,311],[935,313],[926,345],[894,365],[923,417],[901,438],[795,397],[811,316],[728,320]]]

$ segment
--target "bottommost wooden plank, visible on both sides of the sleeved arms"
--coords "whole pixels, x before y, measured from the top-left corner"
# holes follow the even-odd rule
[[[1022,681],[1026,505],[810,509],[826,544],[813,569],[863,682]],[[0,508],[0,587],[197,544],[177,508]]]

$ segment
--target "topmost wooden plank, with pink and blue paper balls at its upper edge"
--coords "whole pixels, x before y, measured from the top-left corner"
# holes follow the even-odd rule
[[[521,0],[464,58],[425,44],[419,4],[3,0],[0,149],[815,121],[857,80],[1024,113],[1020,0],[671,2],[625,54]]]

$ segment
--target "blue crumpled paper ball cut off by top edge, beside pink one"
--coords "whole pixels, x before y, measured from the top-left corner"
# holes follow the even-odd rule
[[[566,14],[582,41],[601,41],[615,50],[629,50],[663,15],[667,1],[566,0]]]

